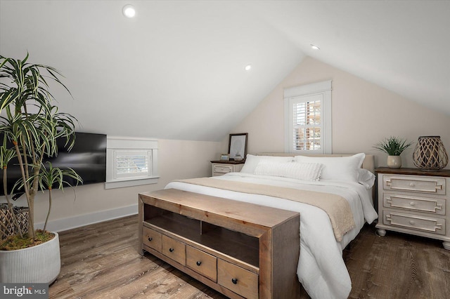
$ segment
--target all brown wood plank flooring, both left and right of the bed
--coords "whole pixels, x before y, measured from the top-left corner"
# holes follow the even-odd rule
[[[49,298],[214,298],[224,295],[137,252],[137,215],[60,232],[61,272]],[[440,241],[366,225],[344,259],[349,298],[448,298],[450,251]],[[302,298],[309,298],[302,291]]]

